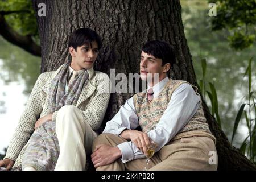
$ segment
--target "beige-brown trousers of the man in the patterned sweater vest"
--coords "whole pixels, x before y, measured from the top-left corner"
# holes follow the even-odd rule
[[[93,142],[93,150],[98,144],[108,144],[117,146],[117,144],[126,142],[126,140],[118,135],[101,134]],[[213,151],[213,152],[210,152]],[[193,136],[176,139],[169,142],[160,151],[156,152],[148,163],[150,170],[217,170],[217,159],[212,162],[209,155],[217,152],[214,141],[210,137]],[[213,159],[214,160],[214,159]],[[210,161],[210,162],[209,162]],[[121,159],[116,160],[112,164],[98,167],[98,171],[120,171],[120,170],[143,170],[145,166],[145,158],[131,160],[122,163]]]

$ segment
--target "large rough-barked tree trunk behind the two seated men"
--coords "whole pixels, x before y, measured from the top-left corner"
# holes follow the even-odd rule
[[[37,16],[39,3],[46,4],[46,17]],[[56,70],[68,59],[68,35],[88,27],[101,36],[103,47],[95,69],[108,73],[139,73],[139,56],[147,40],[165,40],[175,47],[172,79],[186,80],[199,88],[181,19],[179,1],[33,0],[42,47],[42,72]],[[115,83],[117,83],[116,81]],[[104,118],[109,121],[133,94],[112,94]],[[203,100],[203,97],[201,97]],[[218,169],[256,169],[234,148],[210,114],[203,100],[210,130],[217,138]],[[102,125],[104,127],[105,125]]]

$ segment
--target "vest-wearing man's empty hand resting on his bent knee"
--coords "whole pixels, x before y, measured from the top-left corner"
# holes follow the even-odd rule
[[[95,168],[111,164],[121,156],[122,153],[118,147],[110,147],[106,144],[96,146],[91,155]]]

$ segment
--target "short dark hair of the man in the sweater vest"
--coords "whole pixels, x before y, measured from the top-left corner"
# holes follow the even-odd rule
[[[142,51],[155,58],[162,59],[162,66],[170,63],[171,67],[175,63],[174,49],[167,42],[161,40],[151,40],[146,42],[142,47]]]

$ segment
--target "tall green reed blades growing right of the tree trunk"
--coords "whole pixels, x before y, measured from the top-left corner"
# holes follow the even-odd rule
[[[252,76],[252,71],[251,71],[252,60],[253,60],[253,57],[251,57],[251,59],[249,60],[249,65],[244,74],[244,76],[247,75],[247,77],[248,77],[248,101],[249,101],[249,103],[243,103],[241,105],[240,109],[238,110],[236,118],[234,119],[231,143],[233,142],[234,136],[237,131],[237,127],[241,121],[242,114],[244,114],[249,135],[245,138],[245,140],[243,140],[239,150],[242,152],[242,154],[244,154],[244,155],[246,154],[248,156],[248,158],[251,160],[251,162],[256,164],[256,160],[254,160],[256,157],[256,96],[255,96],[256,91],[252,90],[252,88],[253,88],[252,87],[253,76]],[[205,73],[207,70],[206,59],[201,60],[201,65],[202,65],[202,69],[203,69],[203,80],[205,80]],[[203,81],[203,80],[200,80],[200,88],[201,88],[202,92],[205,92],[207,87],[205,85],[205,81]],[[217,122],[218,122],[219,126],[221,127],[221,120],[220,120],[220,116],[218,114],[217,93],[216,93],[214,84],[209,82],[209,86],[210,86],[211,92],[209,92],[209,91],[206,91],[206,92],[208,93],[208,97],[210,98],[210,102],[212,103],[212,115],[213,116],[215,115]],[[249,106],[248,111],[245,110],[246,106]]]

